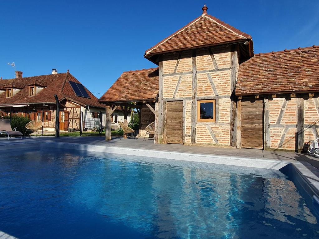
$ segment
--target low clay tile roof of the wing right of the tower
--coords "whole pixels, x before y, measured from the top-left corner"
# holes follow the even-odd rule
[[[236,95],[319,91],[319,46],[255,54],[239,66]]]

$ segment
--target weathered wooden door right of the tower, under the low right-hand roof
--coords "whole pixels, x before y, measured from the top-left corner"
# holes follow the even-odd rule
[[[263,101],[241,102],[241,147],[263,148]]]

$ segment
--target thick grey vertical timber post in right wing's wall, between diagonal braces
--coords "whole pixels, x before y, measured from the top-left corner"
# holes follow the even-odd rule
[[[298,152],[303,150],[304,145],[304,128],[305,128],[305,121],[304,121],[304,99],[297,98],[297,149]]]

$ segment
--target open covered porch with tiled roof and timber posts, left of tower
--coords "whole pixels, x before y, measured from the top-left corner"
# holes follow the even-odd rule
[[[128,125],[130,110],[136,109],[139,116],[138,136],[144,137],[145,128],[155,122],[156,102],[159,92],[158,68],[126,71],[115,81],[107,92],[99,99],[105,104],[105,140],[112,140],[112,114],[120,107],[124,115],[124,125]],[[124,139],[126,136],[124,135]]]

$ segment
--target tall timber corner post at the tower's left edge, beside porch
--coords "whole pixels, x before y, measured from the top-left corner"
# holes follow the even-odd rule
[[[157,125],[155,128],[156,138],[155,143],[163,143],[163,62],[159,62],[159,97],[157,102],[157,112],[155,117],[157,118]]]

